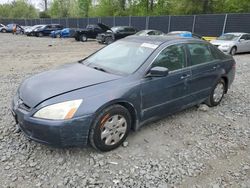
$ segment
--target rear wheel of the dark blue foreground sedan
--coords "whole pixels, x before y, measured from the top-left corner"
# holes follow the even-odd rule
[[[220,104],[224,94],[226,92],[226,84],[223,79],[220,79],[213,87],[211,94],[209,95],[206,104],[210,107]]]

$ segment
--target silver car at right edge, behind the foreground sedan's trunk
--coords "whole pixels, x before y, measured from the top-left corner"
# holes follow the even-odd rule
[[[250,52],[249,33],[225,33],[210,42],[227,54],[235,55],[239,52]]]

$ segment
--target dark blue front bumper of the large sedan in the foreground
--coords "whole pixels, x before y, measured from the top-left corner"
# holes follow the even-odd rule
[[[12,108],[12,114],[29,139],[56,147],[86,146],[92,115],[70,120],[33,118],[26,111]]]

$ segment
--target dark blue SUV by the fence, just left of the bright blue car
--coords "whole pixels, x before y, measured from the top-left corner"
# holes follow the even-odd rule
[[[48,24],[33,30],[37,37],[49,36],[52,31],[62,30],[63,26],[60,24]]]

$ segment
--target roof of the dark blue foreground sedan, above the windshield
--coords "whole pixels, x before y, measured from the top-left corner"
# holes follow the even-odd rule
[[[180,37],[180,36],[159,36],[159,35],[152,35],[152,36],[136,36],[136,35],[131,35],[128,36],[124,39],[121,39],[124,41],[134,41],[134,42],[141,42],[141,43],[151,43],[151,44],[156,44],[156,45],[161,45],[163,43],[170,43],[172,41],[180,41],[180,42],[185,42],[185,41],[199,41],[199,42],[204,42],[203,40],[200,39],[194,39],[194,38],[185,38],[185,37]]]

